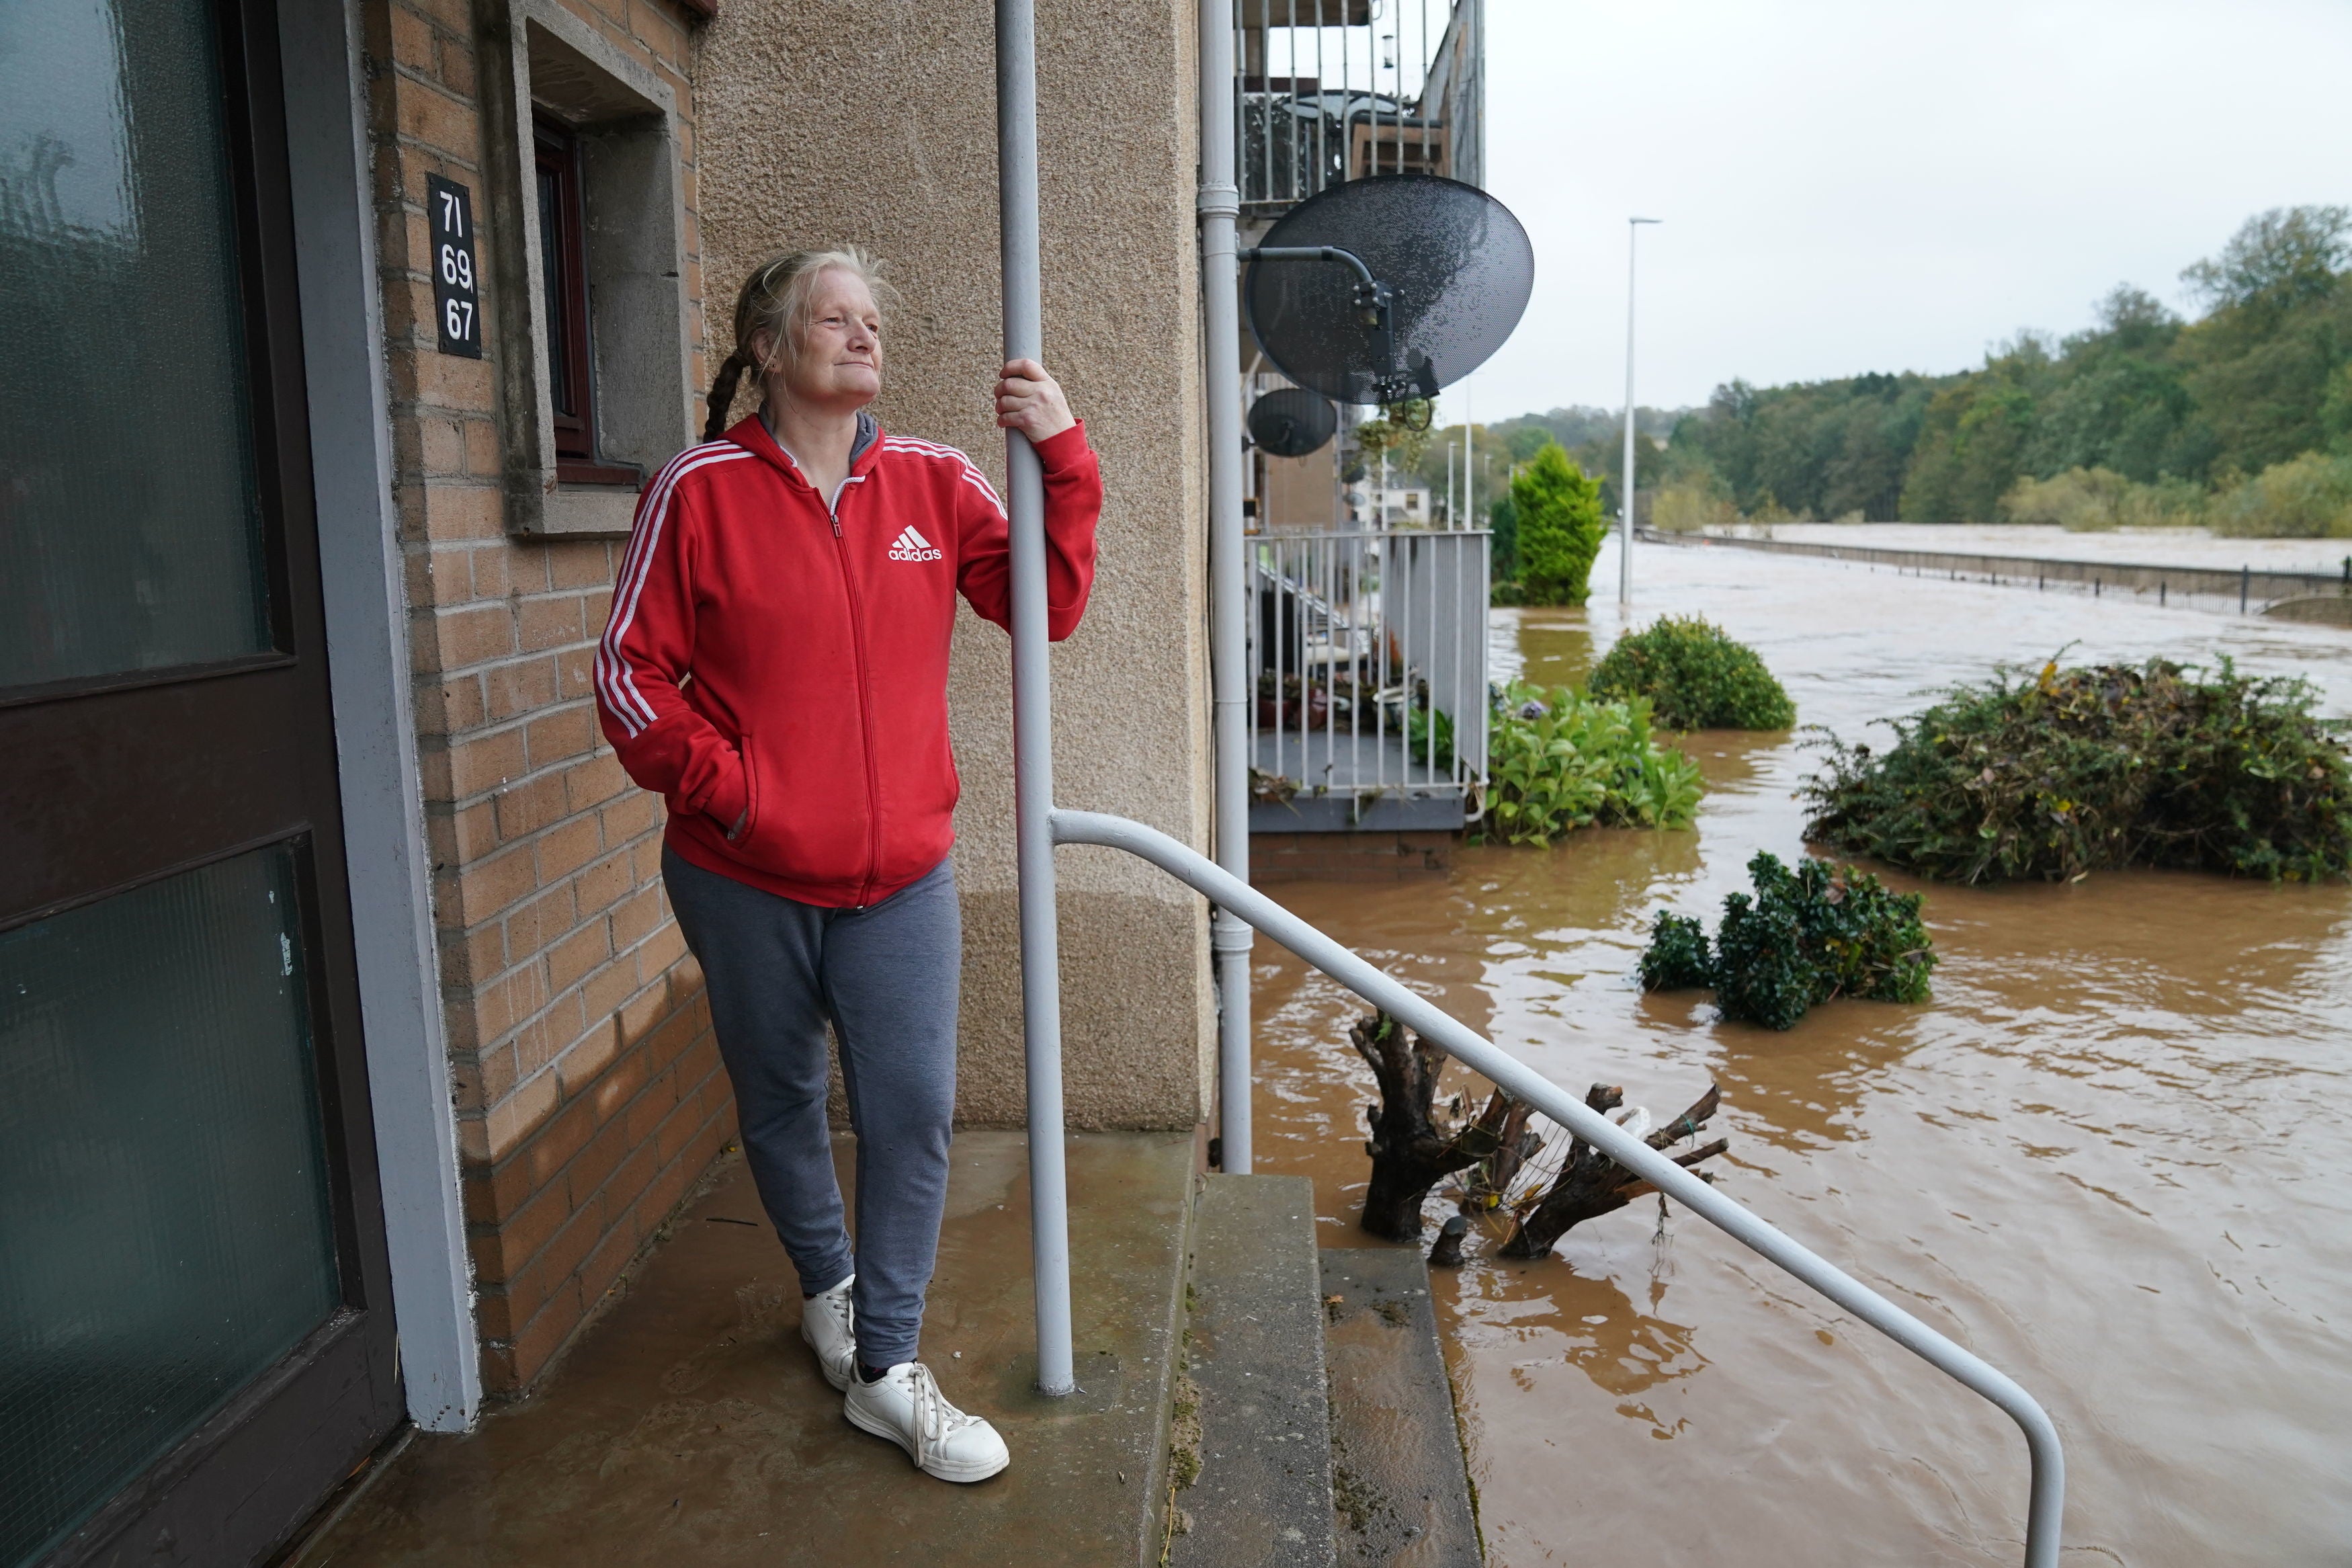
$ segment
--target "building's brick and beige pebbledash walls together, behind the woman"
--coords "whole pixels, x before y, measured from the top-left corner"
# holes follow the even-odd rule
[[[1047,353],[1108,489],[1094,607],[1054,665],[1058,792],[1204,844],[1190,19],[1148,2],[1040,12]],[[635,400],[626,456],[649,468],[668,456],[649,447],[644,409],[663,428],[675,409],[675,444],[699,430],[753,259],[854,240],[894,263],[903,292],[880,416],[964,447],[1002,480],[988,397],[993,14],[985,0],[717,0],[715,16],[691,0],[362,0],[362,21],[482,1382],[515,1394],[734,1135],[701,973],[661,893],[661,802],[628,783],[595,724],[590,658],[626,510],[557,484],[543,456],[529,103],[621,148],[590,162],[588,244],[593,289],[597,254],[633,268],[595,317],[600,390]],[[482,360],[437,350],[435,174],[475,195]],[[612,214],[628,205],[637,230],[616,237]],[[654,308],[609,322],[623,289]],[[964,776],[960,1119],[1009,1126],[1023,1114],[1009,661],[1002,632],[969,611],[950,701]],[[1211,1060],[1204,917],[1141,865],[1063,856],[1070,1121],[1192,1126]]]

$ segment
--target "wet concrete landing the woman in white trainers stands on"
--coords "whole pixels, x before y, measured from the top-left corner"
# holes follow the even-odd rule
[[[1025,1143],[955,1138],[922,1354],[1004,1432],[1002,1476],[934,1481],[842,1420],[734,1161],[534,1399],[414,1439],[294,1568],[1157,1561],[1192,1138],[1073,1135],[1068,1168],[1082,1392],[1047,1401]]]

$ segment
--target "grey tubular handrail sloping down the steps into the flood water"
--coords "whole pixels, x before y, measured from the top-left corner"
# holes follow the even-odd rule
[[[1830,1260],[1780,1234],[1740,1204],[1470,1030],[1470,1025],[1446,1016],[1425,997],[1416,997],[1392,976],[1374,969],[1265,893],[1237,882],[1169,835],[1098,811],[1054,811],[1049,820],[1056,844],[1101,844],[1150,860],[1204,896],[1221,912],[1249,922],[1364,1001],[1383,1009],[1416,1034],[1444,1046],[1446,1053],[1465,1067],[1482,1072],[1512,1098],[1534,1105],[1602,1154],[1609,1154],[1738,1244],[1780,1265],[1903,1349],[1990,1399],[2025,1432],[2025,1453],[2032,1462],[2032,1490],[2025,1509],[2025,1568],[2058,1568],[2058,1528],[2065,1514],[2065,1453],[2058,1446],[2058,1427],[2051,1425],[2049,1413],[2009,1373],[1962,1349]]]

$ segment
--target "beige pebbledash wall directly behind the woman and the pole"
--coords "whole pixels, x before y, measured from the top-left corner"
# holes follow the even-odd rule
[[[1192,28],[1181,0],[1042,0],[1037,143],[1044,353],[1105,494],[1094,597],[1054,649],[1054,792],[1207,846]],[[962,447],[1002,489],[993,38],[990,0],[720,0],[696,92],[713,346],[722,292],[760,256],[858,240],[906,296],[877,416]],[[960,611],[957,1103],[1007,1126],[1023,1110],[1009,691],[1009,639]],[[1192,1126],[1214,1065],[1200,900],[1115,851],[1061,851],[1061,973],[1070,1124]]]

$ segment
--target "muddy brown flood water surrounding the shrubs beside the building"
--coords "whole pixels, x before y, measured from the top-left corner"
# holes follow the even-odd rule
[[[2345,630],[1736,550],[1635,564],[1637,621],[1719,621],[1802,722],[1849,738],[2065,644],[2230,654],[2352,715]],[[1592,581],[1588,611],[1496,611],[1496,663],[1578,679],[1621,630],[1613,555]],[[1773,1034],[1632,980],[1658,907],[1712,926],[1757,849],[1804,849],[1799,738],[1686,745],[1710,780],[1693,832],[1272,891],[1576,1093],[1623,1084],[1663,1121],[1722,1084],[1731,1197],[2051,1410],[2067,1563],[2352,1563],[2352,889],[1929,886],[1931,1004],[1844,1001]],[[1258,959],[1258,1168],[1312,1175],[1324,1241],[1362,1244],[1362,1006],[1268,943]],[[1451,1204],[1428,1213],[1435,1234]],[[1550,1260],[1439,1272],[1498,1568],[2018,1561],[2004,1415],[1703,1220],[1658,1227],[1642,1199]]]

